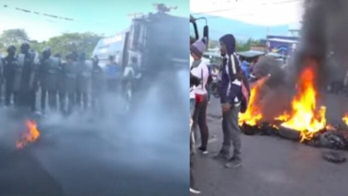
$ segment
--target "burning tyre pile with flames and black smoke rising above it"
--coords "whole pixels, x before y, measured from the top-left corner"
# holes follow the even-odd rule
[[[345,21],[334,18],[337,18],[337,14],[347,13],[348,3],[344,0],[305,0],[304,7],[301,41],[293,61],[287,65],[283,76],[270,75],[251,85],[248,109],[239,115],[239,126],[245,134],[280,135],[314,146],[348,149],[348,113],[340,117],[347,125],[345,130],[335,128],[326,120],[327,105],[319,104],[323,97],[321,89],[329,82],[328,78],[336,75],[327,71],[332,69],[326,59],[328,53],[336,50],[333,57],[342,64],[339,68],[345,72],[348,68],[343,67],[346,63],[342,63],[342,59],[346,62],[346,55],[344,52],[339,53],[342,49],[348,50],[348,47],[341,48],[341,41],[332,39],[341,37],[337,33],[341,33],[338,29],[341,29],[340,23]],[[338,8],[339,11],[336,11]],[[280,82],[282,78],[286,78],[284,83],[284,80]],[[271,88],[267,86],[267,80],[272,80],[273,84],[277,81],[282,83],[280,85],[284,85],[283,89],[290,86],[288,92],[292,97],[288,100],[287,108],[276,108],[270,117],[265,116],[270,105],[266,104],[265,95],[262,94],[264,88]],[[274,93],[270,104],[280,101],[278,97],[281,94],[282,92]]]

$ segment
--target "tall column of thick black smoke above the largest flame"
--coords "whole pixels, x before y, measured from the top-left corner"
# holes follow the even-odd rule
[[[346,0],[305,0],[301,40],[291,64],[293,79],[305,66],[306,58],[317,60],[317,87],[342,81],[348,68],[348,2]]]

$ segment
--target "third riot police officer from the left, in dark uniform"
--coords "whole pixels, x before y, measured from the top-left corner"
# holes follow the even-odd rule
[[[39,66],[39,82],[41,84],[41,110],[45,111],[46,94],[48,93],[49,109],[56,109],[56,97],[58,90],[58,77],[60,72],[60,61],[51,56],[49,47],[42,51],[42,59]]]

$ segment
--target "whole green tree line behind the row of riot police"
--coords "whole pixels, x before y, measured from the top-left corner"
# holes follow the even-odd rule
[[[62,33],[59,36],[49,38],[47,41],[37,41],[30,39],[24,29],[7,29],[2,31],[0,35],[0,48],[2,52],[6,51],[9,45],[14,45],[19,52],[20,44],[28,42],[30,48],[41,52],[45,46],[51,48],[52,54],[65,55],[71,51],[85,52],[87,56],[91,56],[101,35],[93,32],[73,32]]]

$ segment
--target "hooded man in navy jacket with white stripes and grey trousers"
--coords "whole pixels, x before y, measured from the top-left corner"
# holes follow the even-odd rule
[[[234,52],[235,38],[232,34],[226,34],[220,38],[222,56],[222,75],[220,102],[222,108],[223,142],[219,153],[215,158],[228,160],[226,167],[241,166],[240,159],[240,130],[238,127],[238,113],[242,99],[241,75],[239,60]],[[233,145],[233,154],[229,158],[229,148]]]

